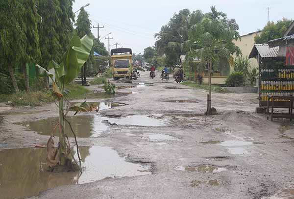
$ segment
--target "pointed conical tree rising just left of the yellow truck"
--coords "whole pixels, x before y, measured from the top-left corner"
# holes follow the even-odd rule
[[[76,20],[76,28],[75,33],[82,37],[82,35],[88,35],[91,38],[94,38],[92,32],[91,32],[91,20],[89,19],[89,14],[85,10],[84,7],[81,7],[80,12],[77,16]],[[90,57],[87,60],[87,62],[82,67],[82,85],[86,85],[87,79],[86,79],[86,69],[91,67],[91,65],[94,64],[94,50],[92,49],[90,52]]]

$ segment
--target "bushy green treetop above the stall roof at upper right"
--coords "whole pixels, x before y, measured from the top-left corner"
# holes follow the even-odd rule
[[[260,35],[256,35],[254,41],[256,44],[264,44],[270,40],[281,38],[291,25],[293,20],[283,18],[282,20],[269,22],[262,30]]]

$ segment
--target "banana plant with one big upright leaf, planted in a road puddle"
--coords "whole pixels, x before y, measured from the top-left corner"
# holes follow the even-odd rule
[[[65,122],[68,122],[68,120],[66,119],[68,110],[67,111],[64,110],[64,100],[66,99],[65,86],[73,82],[73,80],[79,74],[82,66],[87,61],[90,55],[92,46],[93,46],[93,40],[89,36],[86,35],[82,39],[80,39],[78,36],[73,36],[73,38],[70,41],[69,49],[64,53],[62,57],[62,62],[60,64],[57,64],[53,60],[49,62],[48,70],[54,69],[55,78],[53,78],[53,74],[50,74],[46,69],[36,64],[36,66],[39,68],[40,73],[45,73],[51,78],[53,82],[52,95],[54,98],[58,100],[59,123],[56,125],[56,127],[58,126],[58,129],[59,129],[59,145],[56,151],[52,151],[47,148],[48,153],[53,153],[53,154],[48,154],[47,156],[47,159],[51,157],[51,161],[49,164],[50,166],[54,166],[54,165],[65,166],[67,165],[68,160],[71,159],[70,158],[71,153],[69,152],[70,151],[69,143],[66,143],[68,137],[65,133],[65,128],[64,128]],[[72,130],[72,133],[74,134],[72,128],[71,130]],[[51,137],[49,139],[49,142],[51,143],[53,142]],[[76,142],[76,139],[75,139],[75,142]],[[47,144],[47,146],[48,145],[49,144]],[[53,145],[53,148],[54,148],[54,145]],[[73,158],[73,155],[72,155],[72,158]]]

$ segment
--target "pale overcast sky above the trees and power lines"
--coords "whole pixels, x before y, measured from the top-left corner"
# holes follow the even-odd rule
[[[118,42],[118,47],[131,48],[135,53],[143,53],[146,47],[153,46],[154,33],[167,24],[174,13],[185,8],[205,13],[211,5],[216,5],[228,18],[236,19],[242,35],[266,25],[267,7],[270,7],[271,21],[283,17],[294,19],[294,0],[75,0],[73,11],[87,3],[90,5],[85,9],[92,25],[104,25],[99,31],[100,37],[112,32],[111,48]],[[92,32],[97,37],[97,28]],[[100,40],[108,49],[108,40]]]

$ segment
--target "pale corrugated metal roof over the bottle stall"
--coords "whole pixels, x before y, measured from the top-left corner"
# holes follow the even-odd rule
[[[249,54],[249,58],[254,58],[260,55],[262,58],[277,57],[279,47],[269,48],[268,44],[254,44],[253,49]]]

